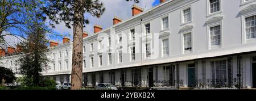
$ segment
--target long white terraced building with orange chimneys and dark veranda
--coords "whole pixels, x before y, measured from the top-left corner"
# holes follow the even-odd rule
[[[132,13],[84,34],[85,86],[256,88],[255,0],[161,1]],[[43,75],[70,82],[72,47],[51,42],[54,62]],[[2,66],[14,69],[5,58]]]

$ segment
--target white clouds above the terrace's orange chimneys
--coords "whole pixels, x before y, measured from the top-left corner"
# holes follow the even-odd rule
[[[90,23],[86,25],[84,28],[84,31],[89,32],[90,34],[93,34],[93,26],[95,24],[98,24],[102,26],[102,28],[106,29],[111,26],[113,26],[113,17],[118,16],[118,18],[121,18],[122,20],[126,20],[128,18],[131,18],[131,7],[134,5],[133,1],[126,2],[125,0],[100,0],[104,3],[105,12],[101,16],[101,18],[95,18],[89,14],[85,14],[85,18],[88,18],[90,20]],[[145,10],[151,9],[152,3],[154,3],[155,0],[141,0],[139,1],[138,5],[139,7],[144,8]],[[73,29],[68,29],[65,27],[64,23],[60,23],[55,26],[56,28],[53,29],[56,32],[59,33],[73,33]]]

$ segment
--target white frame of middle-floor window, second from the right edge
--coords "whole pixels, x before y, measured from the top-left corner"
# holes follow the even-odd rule
[[[211,27],[215,27],[215,26],[220,26],[221,28],[221,42],[220,45],[210,45],[210,28]],[[207,25],[207,46],[208,46],[208,50],[210,49],[217,49],[217,48],[222,48],[223,46],[223,24],[222,24],[222,20],[220,22],[215,22],[215,23],[211,23]]]

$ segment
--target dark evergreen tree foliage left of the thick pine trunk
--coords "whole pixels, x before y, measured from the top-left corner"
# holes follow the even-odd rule
[[[41,72],[47,68],[49,62],[47,42],[46,31],[35,25],[28,33],[27,41],[20,44],[25,53],[19,58],[20,73],[26,75],[28,86],[40,85]],[[31,85],[29,79],[32,79]]]

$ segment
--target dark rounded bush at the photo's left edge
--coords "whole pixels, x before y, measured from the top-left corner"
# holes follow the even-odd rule
[[[13,83],[15,79],[15,75],[13,70],[7,69],[5,67],[0,67],[0,84],[2,83],[2,79],[5,79],[5,83]]]

